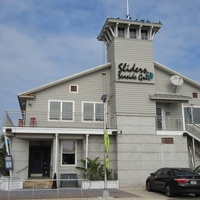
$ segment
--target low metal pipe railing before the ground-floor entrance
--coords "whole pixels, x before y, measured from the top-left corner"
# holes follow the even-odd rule
[[[17,200],[17,199],[59,199],[59,198],[84,198],[88,196],[88,190],[82,189],[83,182],[90,182],[87,179],[50,179],[52,187],[45,187],[45,180],[23,180],[0,178],[0,200]],[[48,180],[46,180],[48,181]],[[64,184],[69,186],[72,182],[77,182],[77,187],[64,187]],[[29,188],[24,188],[24,184],[28,183]],[[43,188],[39,188],[39,185]],[[69,184],[66,184],[69,183]],[[58,187],[57,187],[58,186]],[[90,195],[93,192],[90,190]],[[100,194],[99,194],[100,195]]]

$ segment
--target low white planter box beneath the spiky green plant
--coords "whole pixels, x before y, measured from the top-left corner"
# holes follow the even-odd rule
[[[82,189],[104,189],[104,181],[83,181]],[[107,181],[107,188],[119,188],[118,180]]]

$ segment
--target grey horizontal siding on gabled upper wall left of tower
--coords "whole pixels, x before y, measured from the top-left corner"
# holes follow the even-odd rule
[[[51,87],[49,89],[36,93],[36,98],[32,106],[27,105],[27,113],[34,112],[34,116],[27,116],[27,120],[30,117],[36,117],[38,121],[43,121],[51,125],[52,127],[91,127],[91,128],[103,128],[103,123],[88,123],[82,122],[82,102],[102,102],[101,96],[103,94],[103,75],[102,72],[106,72],[106,93],[110,92],[110,69],[98,71],[87,76],[83,76],[73,81],[68,81],[60,85]],[[78,85],[78,93],[69,93],[69,85]],[[49,100],[64,100],[74,101],[75,105],[75,121],[74,122],[48,122],[48,101]],[[43,112],[44,115],[38,113]]]

